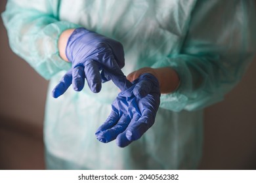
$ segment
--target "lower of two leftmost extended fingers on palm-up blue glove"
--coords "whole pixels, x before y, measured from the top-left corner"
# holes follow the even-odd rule
[[[102,131],[100,133],[96,134],[96,138],[100,142],[110,142],[116,139],[117,135],[125,131],[127,126],[129,125],[129,122],[131,121],[131,118],[129,116],[121,116],[119,122],[117,122],[116,125],[114,125],[110,129],[106,129],[105,131]]]

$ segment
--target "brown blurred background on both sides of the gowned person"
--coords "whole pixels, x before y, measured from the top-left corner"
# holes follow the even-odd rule
[[[6,0],[0,1],[0,12]],[[9,48],[0,21],[0,169],[45,169],[48,82]],[[256,169],[256,60],[223,102],[206,108],[200,169]]]

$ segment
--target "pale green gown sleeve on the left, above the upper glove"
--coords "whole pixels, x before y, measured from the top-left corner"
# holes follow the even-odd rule
[[[58,20],[60,1],[9,0],[1,14],[12,51],[45,79],[70,68],[58,53],[62,31],[79,25]]]

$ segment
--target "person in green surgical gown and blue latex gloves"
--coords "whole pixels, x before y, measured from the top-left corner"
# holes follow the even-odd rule
[[[2,18],[13,52],[50,79],[47,169],[198,169],[203,108],[256,52],[255,1],[9,0]]]

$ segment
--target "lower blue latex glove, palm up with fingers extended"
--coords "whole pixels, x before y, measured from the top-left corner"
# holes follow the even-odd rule
[[[95,133],[98,141],[116,139],[117,146],[125,147],[139,139],[154,124],[160,95],[157,78],[149,73],[140,75],[112,103],[110,116]]]

